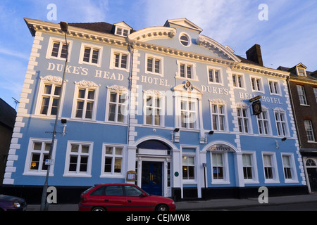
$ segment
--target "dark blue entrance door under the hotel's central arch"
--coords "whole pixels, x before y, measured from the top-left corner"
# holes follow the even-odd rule
[[[142,162],[142,189],[152,195],[162,195],[162,162]]]

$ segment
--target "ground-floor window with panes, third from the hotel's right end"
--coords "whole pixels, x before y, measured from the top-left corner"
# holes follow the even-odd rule
[[[254,153],[243,153],[242,165],[243,165],[244,182],[253,183],[258,181]]]

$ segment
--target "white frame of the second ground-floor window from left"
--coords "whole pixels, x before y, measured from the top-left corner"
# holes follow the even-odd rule
[[[72,145],[79,145],[78,153],[72,153],[71,152],[71,146]],[[82,150],[82,146],[89,146],[89,153],[80,153],[80,151]],[[92,152],[93,152],[93,148],[94,148],[94,143],[93,142],[89,142],[89,141],[68,141],[63,176],[92,177]],[[76,171],[75,172],[69,171],[70,155],[79,156],[79,157],[77,157],[77,165],[76,165]],[[81,156],[88,156],[87,171],[86,172],[80,172],[79,171]]]

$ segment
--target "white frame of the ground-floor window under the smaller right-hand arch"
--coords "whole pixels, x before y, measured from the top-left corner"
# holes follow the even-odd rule
[[[213,176],[213,154],[220,154],[221,159],[223,161],[223,179],[216,179]],[[211,184],[230,184],[230,177],[229,177],[229,163],[228,163],[228,153],[224,152],[217,152],[217,151],[210,151],[210,160],[211,160]]]

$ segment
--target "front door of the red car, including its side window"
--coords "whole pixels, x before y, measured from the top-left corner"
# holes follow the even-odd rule
[[[154,210],[151,197],[136,186],[125,185],[126,211]]]

